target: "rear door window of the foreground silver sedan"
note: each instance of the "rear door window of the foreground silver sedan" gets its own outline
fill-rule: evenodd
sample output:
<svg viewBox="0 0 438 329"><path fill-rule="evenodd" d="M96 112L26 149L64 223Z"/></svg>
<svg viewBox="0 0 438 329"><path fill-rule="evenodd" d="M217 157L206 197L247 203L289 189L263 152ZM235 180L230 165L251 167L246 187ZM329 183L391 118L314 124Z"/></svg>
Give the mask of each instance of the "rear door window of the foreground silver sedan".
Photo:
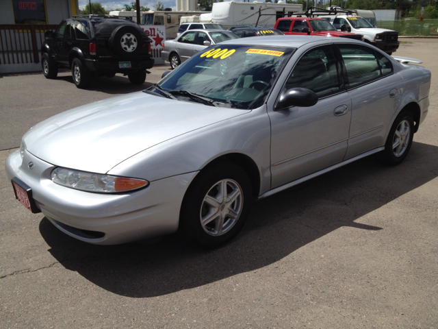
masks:
<svg viewBox="0 0 438 329"><path fill-rule="evenodd" d="M350 87L381 77L374 49L361 45L338 45L347 70ZM386 70L386 69L385 69Z"/></svg>

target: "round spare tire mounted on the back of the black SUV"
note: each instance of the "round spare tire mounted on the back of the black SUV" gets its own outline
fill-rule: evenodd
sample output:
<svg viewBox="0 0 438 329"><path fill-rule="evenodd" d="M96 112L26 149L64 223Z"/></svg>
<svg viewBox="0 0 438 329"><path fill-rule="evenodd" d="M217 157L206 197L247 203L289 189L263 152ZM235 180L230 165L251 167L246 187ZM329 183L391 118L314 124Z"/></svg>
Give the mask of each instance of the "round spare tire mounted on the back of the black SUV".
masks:
<svg viewBox="0 0 438 329"><path fill-rule="evenodd" d="M142 33L132 25L122 25L114 29L110 37L110 47L122 58L133 58L142 52Z"/></svg>

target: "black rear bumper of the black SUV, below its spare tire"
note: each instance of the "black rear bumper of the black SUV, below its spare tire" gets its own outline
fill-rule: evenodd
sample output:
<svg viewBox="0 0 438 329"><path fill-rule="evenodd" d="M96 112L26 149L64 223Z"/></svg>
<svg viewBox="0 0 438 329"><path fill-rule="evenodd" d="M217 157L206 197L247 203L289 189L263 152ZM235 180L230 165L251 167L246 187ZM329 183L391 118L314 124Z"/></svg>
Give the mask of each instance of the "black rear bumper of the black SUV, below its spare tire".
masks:
<svg viewBox="0 0 438 329"><path fill-rule="evenodd" d="M130 69L120 69L118 66L119 62L131 62ZM90 72L118 72L118 73L129 73L131 71L144 71L151 69L153 67L155 60L153 58L142 59L142 60L92 60L86 59L85 64L88 71Z"/></svg>

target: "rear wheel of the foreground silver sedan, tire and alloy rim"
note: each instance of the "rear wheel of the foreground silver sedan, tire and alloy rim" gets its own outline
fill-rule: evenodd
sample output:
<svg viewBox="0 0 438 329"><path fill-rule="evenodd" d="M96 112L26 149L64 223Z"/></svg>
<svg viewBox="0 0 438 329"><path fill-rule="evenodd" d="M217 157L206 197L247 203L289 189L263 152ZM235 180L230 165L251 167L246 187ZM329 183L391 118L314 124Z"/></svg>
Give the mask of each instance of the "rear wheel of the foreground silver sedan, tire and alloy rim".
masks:
<svg viewBox="0 0 438 329"><path fill-rule="evenodd" d="M413 141L413 117L402 110L389 130L385 150L379 154L385 164L396 166L407 157Z"/></svg>

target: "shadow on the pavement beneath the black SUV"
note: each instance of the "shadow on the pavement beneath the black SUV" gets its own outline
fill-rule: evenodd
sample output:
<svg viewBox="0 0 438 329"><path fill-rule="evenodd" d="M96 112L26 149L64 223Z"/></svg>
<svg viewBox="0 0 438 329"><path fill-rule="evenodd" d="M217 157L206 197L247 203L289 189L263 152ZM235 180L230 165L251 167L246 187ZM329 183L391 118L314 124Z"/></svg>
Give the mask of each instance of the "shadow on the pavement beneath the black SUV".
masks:
<svg viewBox="0 0 438 329"><path fill-rule="evenodd" d="M56 79L70 82L72 88L76 88L71 73L59 75ZM115 77L93 77L92 83L87 90L100 91L107 94L127 94L144 90L152 85L151 82L147 81L147 75L144 84L131 84L127 76L116 75Z"/></svg>

